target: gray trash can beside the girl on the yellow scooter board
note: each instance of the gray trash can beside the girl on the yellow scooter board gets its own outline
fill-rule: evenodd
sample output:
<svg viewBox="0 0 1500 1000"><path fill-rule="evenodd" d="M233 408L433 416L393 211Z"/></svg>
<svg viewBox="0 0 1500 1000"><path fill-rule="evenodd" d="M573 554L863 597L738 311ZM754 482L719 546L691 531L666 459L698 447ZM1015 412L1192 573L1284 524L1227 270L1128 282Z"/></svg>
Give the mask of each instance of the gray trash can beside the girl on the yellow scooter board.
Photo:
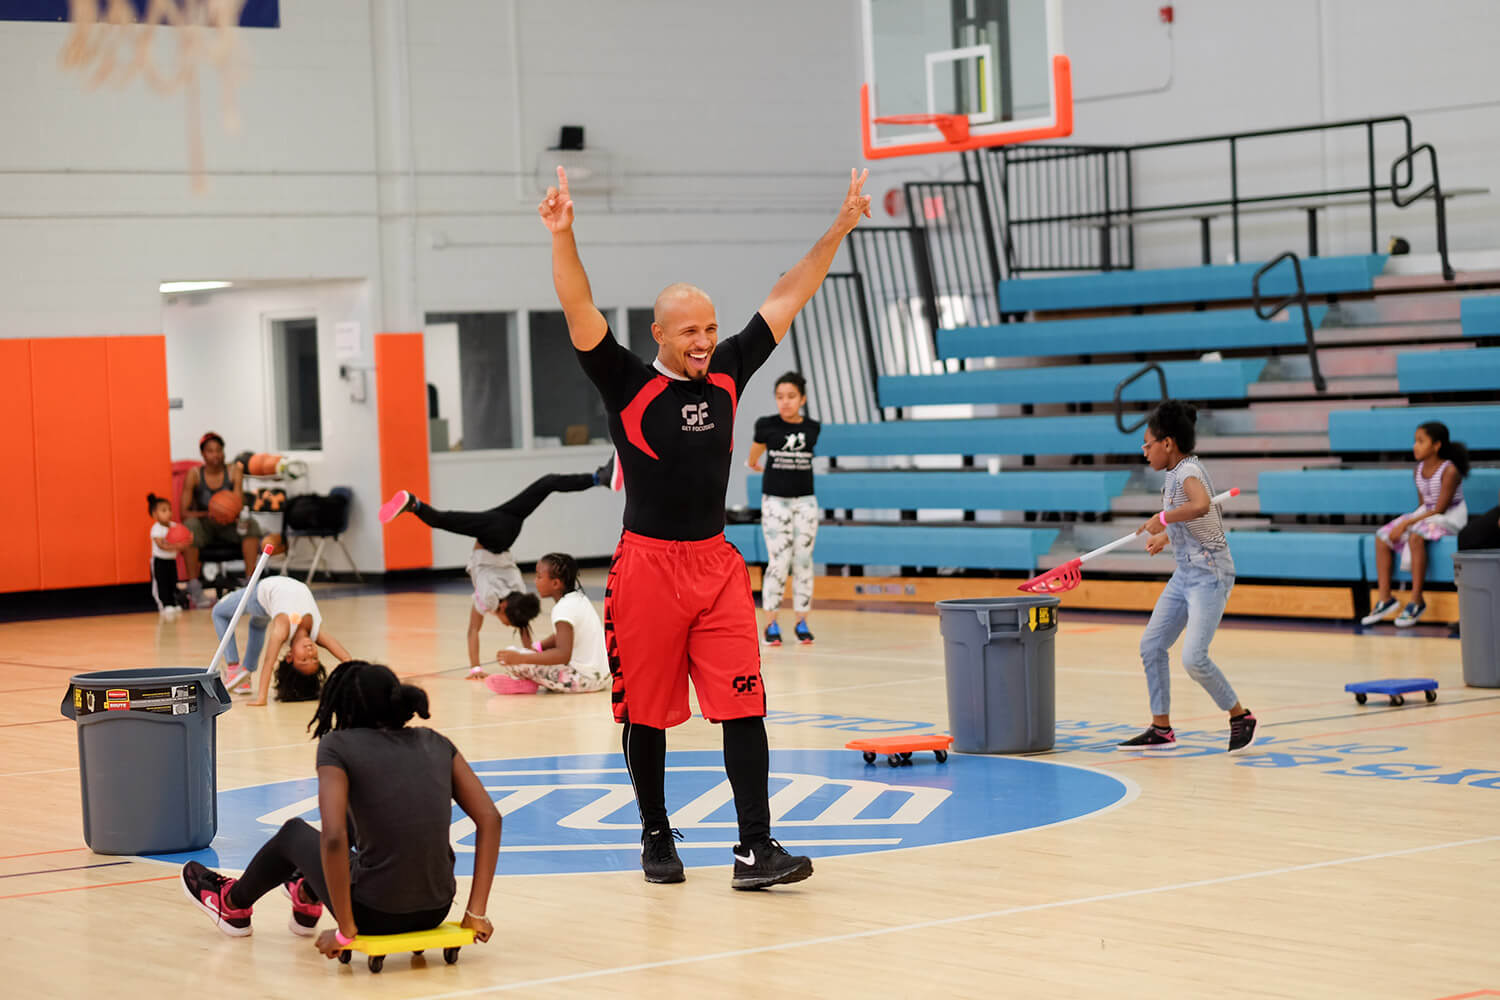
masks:
<svg viewBox="0 0 1500 1000"><path fill-rule="evenodd" d="M75 673L84 843L99 855L201 850L219 829L216 720L230 693L202 667Z"/></svg>

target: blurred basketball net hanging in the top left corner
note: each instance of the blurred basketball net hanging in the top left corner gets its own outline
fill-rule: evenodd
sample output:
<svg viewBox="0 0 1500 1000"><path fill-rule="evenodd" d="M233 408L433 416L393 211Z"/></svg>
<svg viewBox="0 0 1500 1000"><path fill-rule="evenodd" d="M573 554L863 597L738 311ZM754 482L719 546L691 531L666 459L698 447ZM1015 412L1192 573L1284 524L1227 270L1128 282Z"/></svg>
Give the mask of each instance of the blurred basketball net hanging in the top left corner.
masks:
<svg viewBox="0 0 1500 1000"><path fill-rule="evenodd" d="M136 76L159 93L182 90L188 100L188 157L194 190L202 192L202 126L198 108L198 70L219 70L220 118L228 132L238 132L240 114L234 88L243 75L243 52L234 36L246 0L148 0L136 19L130 0L69 0L74 30L63 42L64 69L88 73L88 85L123 87ZM104 16L100 16L104 6ZM152 46L156 28L176 30L177 58L158 64ZM92 70L90 70L92 67Z"/></svg>

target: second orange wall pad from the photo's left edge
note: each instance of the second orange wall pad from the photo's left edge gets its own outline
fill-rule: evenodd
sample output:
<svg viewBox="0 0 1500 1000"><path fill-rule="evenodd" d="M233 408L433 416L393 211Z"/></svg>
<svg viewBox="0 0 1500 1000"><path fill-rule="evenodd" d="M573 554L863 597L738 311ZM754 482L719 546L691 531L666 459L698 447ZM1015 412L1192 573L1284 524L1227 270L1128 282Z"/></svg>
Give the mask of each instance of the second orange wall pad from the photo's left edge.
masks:
<svg viewBox="0 0 1500 1000"><path fill-rule="evenodd" d="M42 588L116 583L105 337L32 340L32 415Z"/></svg>

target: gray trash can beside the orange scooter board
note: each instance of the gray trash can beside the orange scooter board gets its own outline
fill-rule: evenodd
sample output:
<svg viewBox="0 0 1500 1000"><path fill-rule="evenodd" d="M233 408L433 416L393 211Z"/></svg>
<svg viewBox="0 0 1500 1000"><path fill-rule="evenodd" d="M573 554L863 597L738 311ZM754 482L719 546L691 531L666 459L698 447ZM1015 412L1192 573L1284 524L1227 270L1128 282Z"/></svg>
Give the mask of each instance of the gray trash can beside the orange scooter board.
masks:
<svg viewBox="0 0 1500 1000"><path fill-rule="evenodd" d="M1056 739L1056 597L938 601L952 748L1050 750Z"/></svg>

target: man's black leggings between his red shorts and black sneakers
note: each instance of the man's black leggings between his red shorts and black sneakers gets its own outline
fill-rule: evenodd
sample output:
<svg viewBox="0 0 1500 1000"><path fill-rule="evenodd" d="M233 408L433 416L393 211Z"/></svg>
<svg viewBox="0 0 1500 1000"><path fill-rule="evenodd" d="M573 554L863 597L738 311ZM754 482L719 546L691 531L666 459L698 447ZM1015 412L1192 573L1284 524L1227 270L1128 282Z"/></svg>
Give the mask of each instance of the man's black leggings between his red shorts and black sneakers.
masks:
<svg viewBox="0 0 1500 1000"><path fill-rule="evenodd" d="M740 843L759 844L771 835L770 771L771 750L765 720L732 718L724 730L724 774L735 793ZM626 751L630 784L636 789L642 831L668 826L666 813L666 730L640 726L626 718L620 744Z"/></svg>

